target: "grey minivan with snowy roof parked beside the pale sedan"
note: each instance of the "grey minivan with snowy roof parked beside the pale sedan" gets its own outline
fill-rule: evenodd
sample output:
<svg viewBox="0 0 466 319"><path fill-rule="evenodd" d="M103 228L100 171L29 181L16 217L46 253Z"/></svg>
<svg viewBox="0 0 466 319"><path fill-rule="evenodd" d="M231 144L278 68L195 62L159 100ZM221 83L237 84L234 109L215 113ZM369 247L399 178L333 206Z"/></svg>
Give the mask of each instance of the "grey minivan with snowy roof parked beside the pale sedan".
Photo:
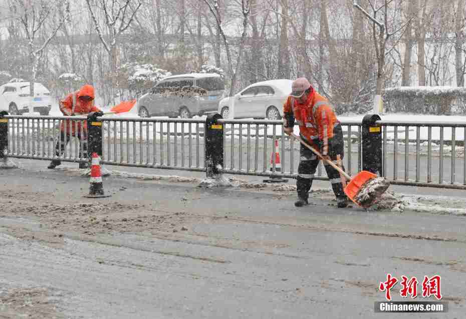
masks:
<svg viewBox="0 0 466 319"><path fill-rule="evenodd" d="M165 77L137 102L141 117L190 118L216 111L225 85L216 73L189 73Z"/></svg>

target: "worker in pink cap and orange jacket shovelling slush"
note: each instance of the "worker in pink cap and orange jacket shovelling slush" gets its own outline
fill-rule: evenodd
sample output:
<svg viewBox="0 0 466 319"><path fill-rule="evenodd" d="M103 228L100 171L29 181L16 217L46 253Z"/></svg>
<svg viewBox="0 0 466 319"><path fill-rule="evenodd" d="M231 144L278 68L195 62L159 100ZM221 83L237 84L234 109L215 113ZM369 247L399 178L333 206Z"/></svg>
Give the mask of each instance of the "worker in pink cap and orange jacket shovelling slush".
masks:
<svg viewBox="0 0 466 319"><path fill-rule="evenodd" d="M317 93L305 77L293 81L292 92L283 105L283 114L286 134L290 135L293 132L296 120L301 138L315 149L320 149L324 158L335 162L343 158L344 144L340 121L328 100ZM319 160L320 158L316 154L301 144L296 179L298 200L295 202L295 206L309 204L308 192L311 189ZM338 207L346 207L348 198L343 191L340 173L325 161L324 166L337 198ZM343 166L342 169L344 170Z"/></svg>

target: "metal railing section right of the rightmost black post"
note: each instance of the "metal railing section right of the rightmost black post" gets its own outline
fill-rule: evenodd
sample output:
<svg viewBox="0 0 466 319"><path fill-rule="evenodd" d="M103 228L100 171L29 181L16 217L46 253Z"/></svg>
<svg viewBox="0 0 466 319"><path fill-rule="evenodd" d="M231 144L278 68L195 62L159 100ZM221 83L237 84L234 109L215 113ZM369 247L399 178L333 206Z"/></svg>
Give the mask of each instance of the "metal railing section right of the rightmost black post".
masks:
<svg viewBox="0 0 466 319"><path fill-rule="evenodd" d="M382 175L391 183L466 189L466 122L377 123L383 128Z"/></svg>

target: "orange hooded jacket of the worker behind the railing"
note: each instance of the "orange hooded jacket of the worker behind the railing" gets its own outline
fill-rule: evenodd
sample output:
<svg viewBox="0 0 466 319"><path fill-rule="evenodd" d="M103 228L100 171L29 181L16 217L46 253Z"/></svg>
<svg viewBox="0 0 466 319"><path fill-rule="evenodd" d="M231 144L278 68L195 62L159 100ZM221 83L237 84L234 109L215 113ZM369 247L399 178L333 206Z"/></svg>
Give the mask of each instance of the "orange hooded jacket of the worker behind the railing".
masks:
<svg viewBox="0 0 466 319"><path fill-rule="evenodd" d="M80 96L90 96L92 100L83 101ZM60 101L60 110L63 115L70 116L72 114L76 115L87 115L89 112L99 112L100 109L94 105L94 87L90 84L83 85L79 90L68 94L63 100ZM66 130L72 136L75 136L76 132L81 134L81 121L74 120L62 120L60 129L62 132L65 131L65 122ZM76 123L77 122L77 123ZM84 121L83 132L85 138L87 136L87 121Z"/></svg>

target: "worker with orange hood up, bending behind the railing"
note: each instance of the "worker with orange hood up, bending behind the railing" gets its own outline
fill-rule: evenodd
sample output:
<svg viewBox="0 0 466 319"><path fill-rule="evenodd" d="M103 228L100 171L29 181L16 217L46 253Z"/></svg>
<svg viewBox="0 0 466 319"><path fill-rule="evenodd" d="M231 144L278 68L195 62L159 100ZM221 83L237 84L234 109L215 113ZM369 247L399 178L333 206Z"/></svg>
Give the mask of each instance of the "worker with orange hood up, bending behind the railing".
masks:
<svg viewBox="0 0 466 319"><path fill-rule="evenodd" d="M100 112L101 110L94 106L94 97L94 87L90 84L85 84L79 90L68 94L65 99L60 101L60 110L65 116L87 115L90 112ZM82 129L84 136L81 136L81 122L84 122ZM64 152L70 140L70 135L77 135L80 140L80 146L83 149L83 157L87 158L87 121L62 120L60 131L60 140L57 141L57 145L55 146L57 156L60 157ZM61 163L60 159L53 159L48 168L55 168ZM79 168L87 167L88 163L79 163Z"/></svg>

